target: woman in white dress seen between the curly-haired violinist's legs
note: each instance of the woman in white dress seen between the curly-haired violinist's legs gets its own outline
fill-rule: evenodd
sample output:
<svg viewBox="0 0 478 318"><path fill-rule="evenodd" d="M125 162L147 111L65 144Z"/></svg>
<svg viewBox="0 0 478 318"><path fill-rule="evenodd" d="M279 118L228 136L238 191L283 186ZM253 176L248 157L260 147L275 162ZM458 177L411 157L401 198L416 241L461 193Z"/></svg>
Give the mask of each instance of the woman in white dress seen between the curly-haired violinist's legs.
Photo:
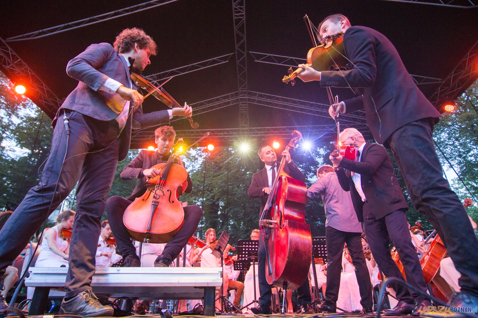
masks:
<svg viewBox="0 0 478 318"><path fill-rule="evenodd" d="M57 224L45 232L40 255L35 267L68 267L70 241L61 237L61 231L73 226L75 212L65 210L56 218Z"/></svg>

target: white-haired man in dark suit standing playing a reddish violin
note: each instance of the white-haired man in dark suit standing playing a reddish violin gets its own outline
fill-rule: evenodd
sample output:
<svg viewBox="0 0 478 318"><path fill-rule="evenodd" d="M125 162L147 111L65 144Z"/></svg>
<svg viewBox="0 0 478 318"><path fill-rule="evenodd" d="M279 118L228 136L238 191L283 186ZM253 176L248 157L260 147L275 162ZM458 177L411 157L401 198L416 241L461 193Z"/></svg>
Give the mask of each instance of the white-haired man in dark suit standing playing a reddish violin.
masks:
<svg viewBox="0 0 478 318"><path fill-rule="evenodd" d="M422 267L412 245L405 215L408 204L395 177L389 154L380 144L366 143L355 128L344 129L340 133L340 142L343 145L357 144L359 149L357 162L341 155L331 155L330 160L337 169L340 186L345 191L350 191L355 213L359 222L363 222L364 233L375 261L386 277L403 279L391 258L391 239L405 269L407 282L426 293ZM412 290L409 292L402 284L392 283L391 286L397 293L399 303L395 308L386 310L385 315L401 316L411 313L413 316L419 316L418 310L421 307L431 306L424 296Z"/></svg>

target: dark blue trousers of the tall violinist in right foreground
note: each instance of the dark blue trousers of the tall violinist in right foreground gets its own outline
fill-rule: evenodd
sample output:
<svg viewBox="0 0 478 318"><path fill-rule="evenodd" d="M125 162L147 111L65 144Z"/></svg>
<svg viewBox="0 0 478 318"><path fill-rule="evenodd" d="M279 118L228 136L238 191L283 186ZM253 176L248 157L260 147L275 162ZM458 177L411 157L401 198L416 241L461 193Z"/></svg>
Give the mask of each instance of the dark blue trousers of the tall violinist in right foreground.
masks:
<svg viewBox="0 0 478 318"><path fill-rule="evenodd" d="M478 240L463 204L443 177L432 127L430 118L406 124L388 142L413 205L435 227L461 274L461 291L478 296Z"/></svg>

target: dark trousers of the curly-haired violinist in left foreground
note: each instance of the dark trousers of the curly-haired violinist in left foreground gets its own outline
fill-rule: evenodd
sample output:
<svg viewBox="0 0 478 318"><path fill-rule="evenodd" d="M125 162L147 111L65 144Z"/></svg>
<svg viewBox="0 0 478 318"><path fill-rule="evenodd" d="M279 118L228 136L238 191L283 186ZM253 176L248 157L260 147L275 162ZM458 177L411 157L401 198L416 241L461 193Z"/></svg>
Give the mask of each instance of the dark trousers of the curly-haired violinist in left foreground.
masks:
<svg viewBox="0 0 478 318"><path fill-rule="evenodd" d="M50 156L43 168L40 184L28 191L0 232L0 268L5 268L78 182L65 297L73 297L91 289L101 229L99 221L113 184L120 147L117 128L74 111L70 112L69 117L70 140L63 169L66 132L61 114L54 129ZM57 180L57 193L53 195Z"/></svg>

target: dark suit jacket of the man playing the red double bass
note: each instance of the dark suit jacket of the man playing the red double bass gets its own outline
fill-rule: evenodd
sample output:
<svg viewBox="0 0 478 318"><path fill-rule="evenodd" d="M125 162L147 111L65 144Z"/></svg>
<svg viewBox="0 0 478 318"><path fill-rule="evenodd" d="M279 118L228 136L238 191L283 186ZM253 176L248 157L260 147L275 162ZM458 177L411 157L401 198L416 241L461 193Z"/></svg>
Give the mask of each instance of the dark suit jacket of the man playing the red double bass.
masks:
<svg viewBox="0 0 478 318"><path fill-rule="evenodd" d="M277 166L279 166L279 164L280 163L278 162ZM284 172L286 174L289 174L294 179L305 182L305 175L302 173L302 171L299 170L299 168L297 168L293 161L291 161L289 164L284 165ZM262 191L262 189L268 186L269 180L267 178L267 170L266 167L264 167L264 169L259 172L256 172L252 176L252 182L250 183L249 189L247 189L247 195L249 195L250 198L261 198L260 212L264 210L264 206L266 205L267 199L269 198L269 195Z"/></svg>

